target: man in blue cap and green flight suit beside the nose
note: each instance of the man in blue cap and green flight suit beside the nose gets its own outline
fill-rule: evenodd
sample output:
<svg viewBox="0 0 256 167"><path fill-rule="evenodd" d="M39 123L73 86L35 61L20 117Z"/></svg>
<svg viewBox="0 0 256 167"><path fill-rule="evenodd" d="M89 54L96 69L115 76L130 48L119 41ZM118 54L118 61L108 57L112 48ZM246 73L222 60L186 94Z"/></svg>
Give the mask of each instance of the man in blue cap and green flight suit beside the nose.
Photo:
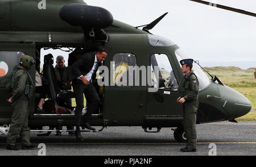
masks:
<svg viewBox="0 0 256 167"><path fill-rule="evenodd" d="M199 82L196 74L193 73L193 59L184 59L180 61L181 72L185 74L178 87L180 97L178 103L183 104L183 124L187 145L181 148L182 152L196 152L196 113L199 106L198 93Z"/></svg>

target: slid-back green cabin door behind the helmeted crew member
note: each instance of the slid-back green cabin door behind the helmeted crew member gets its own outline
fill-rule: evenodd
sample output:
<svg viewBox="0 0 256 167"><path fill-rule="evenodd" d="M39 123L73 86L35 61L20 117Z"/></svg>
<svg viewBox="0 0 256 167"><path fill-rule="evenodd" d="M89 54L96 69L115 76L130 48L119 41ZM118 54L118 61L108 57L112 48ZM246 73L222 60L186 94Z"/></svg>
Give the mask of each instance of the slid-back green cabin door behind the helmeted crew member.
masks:
<svg viewBox="0 0 256 167"><path fill-rule="evenodd" d="M19 60L24 55L35 57L35 43L32 42L6 42L0 44L0 91L3 95L0 96L0 116L1 118L10 119L12 115L11 104L6 99L10 98L10 92L5 86L9 82L13 68L19 65ZM35 80L35 66L30 69L32 80ZM35 82L35 81L34 81ZM6 96L8 94L8 97ZM34 99L34 98L32 98ZM29 114L34 114L34 101L30 102Z"/></svg>

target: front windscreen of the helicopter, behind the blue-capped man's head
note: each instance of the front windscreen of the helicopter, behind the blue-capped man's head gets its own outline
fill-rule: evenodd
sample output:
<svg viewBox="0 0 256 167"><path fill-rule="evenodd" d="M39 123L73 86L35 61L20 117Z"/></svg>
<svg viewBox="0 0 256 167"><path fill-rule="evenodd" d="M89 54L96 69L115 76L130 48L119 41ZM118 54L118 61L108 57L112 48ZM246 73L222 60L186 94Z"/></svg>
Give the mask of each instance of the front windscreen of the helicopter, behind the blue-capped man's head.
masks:
<svg viewBox="0 0 256 167"><path fill-rule="evenodd" d="M189 57L181 49L177 49L175 51L175 55L177 56L178 61L183 60L183 59L189 59ZM209 80L209 77L207 76L207 74L205 74L203 72L203 70L200 68L200 66L197 65L195 62L193 62L192 70L194 71L194 73L196 74L196 76L198 78L199 90L202 90L205 87L207 87L210 83L210 80Z"/></svg>

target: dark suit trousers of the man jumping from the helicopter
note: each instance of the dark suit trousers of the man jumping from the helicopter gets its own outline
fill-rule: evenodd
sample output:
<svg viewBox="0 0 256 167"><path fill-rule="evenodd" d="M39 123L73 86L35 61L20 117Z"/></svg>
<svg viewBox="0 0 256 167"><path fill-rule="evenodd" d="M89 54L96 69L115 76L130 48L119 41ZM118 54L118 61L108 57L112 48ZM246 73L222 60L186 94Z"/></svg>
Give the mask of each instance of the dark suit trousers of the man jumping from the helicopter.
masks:
<svg viewBox="0 0 256 167"><path fill-rule="evenodd" d="M84 108L84 96L86 98L87 112L85 114L85 123L89 122L92 113L98 111L100 106L100 98L92 83L85 85L81 80L73 80L73 90L76 98L76 110L75 110L75 125L77 127L81 124L82 108Z"/></svg>

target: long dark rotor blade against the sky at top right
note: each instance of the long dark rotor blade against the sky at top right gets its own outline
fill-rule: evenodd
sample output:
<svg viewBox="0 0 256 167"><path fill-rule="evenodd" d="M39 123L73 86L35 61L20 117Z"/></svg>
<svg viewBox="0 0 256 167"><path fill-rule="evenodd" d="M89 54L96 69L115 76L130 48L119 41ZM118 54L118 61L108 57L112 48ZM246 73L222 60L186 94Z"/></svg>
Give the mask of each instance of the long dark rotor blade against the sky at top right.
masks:
<svg viewBox="0 0 256 167"><path fill-rule="evenodd" d="M256 17L256 14L253 13L253 12L249 12L249 11L245 11L245 10L241 10L241 9L236 9L236 8L229 7L229 6L219 5L219 4L216 4L216 3L211 3L211 2L207 2L207 1L200 1L200 0L189 0L189 1L203 3L204 5L210 5L210 6L218 7L220 9L225 9L225 10L234 11L234 12L238 12L238 13L241 13L241 14Z"/></svg>

